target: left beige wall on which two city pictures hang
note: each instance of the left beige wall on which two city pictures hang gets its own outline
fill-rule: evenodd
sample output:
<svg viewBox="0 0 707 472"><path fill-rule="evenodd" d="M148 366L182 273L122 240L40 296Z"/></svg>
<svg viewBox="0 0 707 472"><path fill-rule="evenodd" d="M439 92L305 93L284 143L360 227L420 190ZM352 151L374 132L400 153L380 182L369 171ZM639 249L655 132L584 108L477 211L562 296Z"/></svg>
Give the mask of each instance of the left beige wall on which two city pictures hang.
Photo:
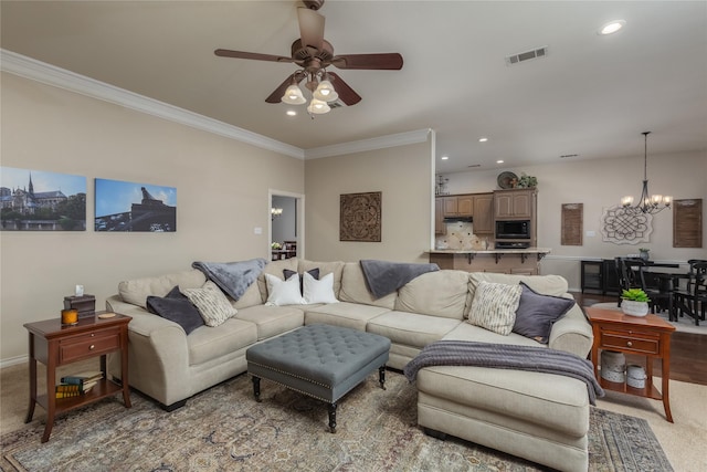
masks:
<svg viewBox="0 0 707 472"><path fill-rule="evenodd" d="M0 232L2 361L27 355L22 324L59 317L75 284L104 307L120 280L268 258L268 189L304 193L303 160L12 74L1 112L0 164L85 176L89 227ZM176 187L177 232L94 232L94 178Z"/></svg>

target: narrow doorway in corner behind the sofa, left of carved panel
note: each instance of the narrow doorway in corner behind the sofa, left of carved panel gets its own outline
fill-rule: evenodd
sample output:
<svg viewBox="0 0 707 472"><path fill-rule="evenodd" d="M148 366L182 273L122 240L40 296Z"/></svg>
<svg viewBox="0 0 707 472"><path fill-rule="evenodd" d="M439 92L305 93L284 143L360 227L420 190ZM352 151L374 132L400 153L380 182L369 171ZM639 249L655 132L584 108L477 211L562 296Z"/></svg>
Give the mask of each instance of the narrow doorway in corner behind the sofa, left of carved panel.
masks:
<svg viewBox="0 0 707 472"><path fill-rule="evenodd" d="M304 196L271 190L272 260L304 258Z"/></svg>

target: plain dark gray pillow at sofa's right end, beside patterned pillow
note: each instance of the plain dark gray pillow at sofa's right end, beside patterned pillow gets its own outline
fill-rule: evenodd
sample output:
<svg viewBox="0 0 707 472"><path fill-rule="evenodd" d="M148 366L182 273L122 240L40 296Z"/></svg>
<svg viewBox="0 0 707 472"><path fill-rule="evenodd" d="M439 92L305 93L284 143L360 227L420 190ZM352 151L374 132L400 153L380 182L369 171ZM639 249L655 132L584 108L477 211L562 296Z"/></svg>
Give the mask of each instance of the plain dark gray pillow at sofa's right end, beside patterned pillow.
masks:
<svg viewBox="0 0 707 472"><path fill-rule="evenodd" d="M513 332L547 344L552 323L564 316L574 306L574 301L561 296L542 295L520 282L523 292L516 311Z"/></svg>

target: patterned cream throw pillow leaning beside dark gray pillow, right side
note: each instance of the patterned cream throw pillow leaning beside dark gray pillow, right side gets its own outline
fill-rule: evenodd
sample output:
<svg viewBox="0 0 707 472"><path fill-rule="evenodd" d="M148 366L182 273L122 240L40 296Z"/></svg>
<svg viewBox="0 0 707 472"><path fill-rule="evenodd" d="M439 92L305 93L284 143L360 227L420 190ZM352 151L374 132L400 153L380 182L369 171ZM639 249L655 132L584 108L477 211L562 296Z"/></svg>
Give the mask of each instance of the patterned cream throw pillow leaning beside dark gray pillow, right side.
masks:
<svg viewBox="0 0 707 472"><path fill-rule="evenodd" d="M468 322L508 336L516 322L521 292L520 285L481 282L474 294Z"/></svg>

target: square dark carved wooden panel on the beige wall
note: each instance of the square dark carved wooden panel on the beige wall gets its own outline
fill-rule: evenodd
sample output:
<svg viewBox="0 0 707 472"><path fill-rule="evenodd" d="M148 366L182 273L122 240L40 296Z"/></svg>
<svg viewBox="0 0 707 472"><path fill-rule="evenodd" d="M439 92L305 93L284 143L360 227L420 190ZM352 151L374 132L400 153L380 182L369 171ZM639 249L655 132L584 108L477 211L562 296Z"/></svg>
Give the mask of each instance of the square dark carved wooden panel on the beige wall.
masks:
<svg viewBox="0 0 707 472"><path fill-rule="evenodd" d="M339 241L380 242L382 192L340 196Z"/></svg>

